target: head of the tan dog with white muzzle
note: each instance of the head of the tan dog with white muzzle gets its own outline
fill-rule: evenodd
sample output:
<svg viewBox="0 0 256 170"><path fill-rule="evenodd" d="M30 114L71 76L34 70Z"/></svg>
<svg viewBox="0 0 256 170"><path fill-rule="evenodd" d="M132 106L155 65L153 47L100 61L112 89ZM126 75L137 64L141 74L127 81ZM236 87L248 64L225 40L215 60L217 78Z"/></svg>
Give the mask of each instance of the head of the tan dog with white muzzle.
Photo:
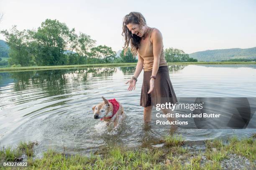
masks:
<svg viewBox="0 0 256 170"><path fill-rule="evenodd" d="M92 107L92 110L94 111L94 113L93 113L94 119L101 119L102 117L107 116L107 114L109 112L110 105L109 105L108 100L105 99L104 97L102 97L102 99L104 102Z"/></svg>

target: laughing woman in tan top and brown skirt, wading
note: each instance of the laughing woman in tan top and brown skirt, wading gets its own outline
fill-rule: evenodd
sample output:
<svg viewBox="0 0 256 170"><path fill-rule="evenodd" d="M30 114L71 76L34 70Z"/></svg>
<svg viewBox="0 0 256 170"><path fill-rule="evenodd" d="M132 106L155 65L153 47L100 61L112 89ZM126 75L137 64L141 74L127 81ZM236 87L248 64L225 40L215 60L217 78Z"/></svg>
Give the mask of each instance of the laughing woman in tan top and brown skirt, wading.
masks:
<svg viewBox="0 0 256 170"><path fill-rule="evenodd" d="M135 89L137 77L144 70L140 106L144 107L144 122L151 121L151 110L156 104L177 103L177 98L169 77L169 69L164 58L164 46L161 32L150 28L141 13L131 12L123 19L123 33L126 53L129 45L134 56L138 54L138 63L128 90ZM164 114L170 109L161 109ZM175 118L168 118L175 121Z"/></svg>

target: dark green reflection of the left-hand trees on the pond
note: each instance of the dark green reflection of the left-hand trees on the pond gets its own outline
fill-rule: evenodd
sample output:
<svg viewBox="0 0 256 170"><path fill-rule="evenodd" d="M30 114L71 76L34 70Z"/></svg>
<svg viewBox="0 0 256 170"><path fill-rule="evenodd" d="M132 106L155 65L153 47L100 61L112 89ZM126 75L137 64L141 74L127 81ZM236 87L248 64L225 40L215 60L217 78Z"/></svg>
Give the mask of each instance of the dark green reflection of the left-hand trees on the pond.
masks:
<svg viewBox="0 0 256 170"><path fill-rule="evenodd" d="M0 80L9 79L14 82L14 91L22 91L27 87L34 86L51 91L51 95L69 93L70 91L63 91L68 79L76 82L87 81L87 77L101 77L107 78L112 76L116 71L115 67L111 68L89 68L89 69L60 69L60 70L42 70L42 71L23 71L0 73ZM9 82L8 82L9 83ZM5 84L1 81L0 84ZM54 91L58 91L57 93Z"/></svg>

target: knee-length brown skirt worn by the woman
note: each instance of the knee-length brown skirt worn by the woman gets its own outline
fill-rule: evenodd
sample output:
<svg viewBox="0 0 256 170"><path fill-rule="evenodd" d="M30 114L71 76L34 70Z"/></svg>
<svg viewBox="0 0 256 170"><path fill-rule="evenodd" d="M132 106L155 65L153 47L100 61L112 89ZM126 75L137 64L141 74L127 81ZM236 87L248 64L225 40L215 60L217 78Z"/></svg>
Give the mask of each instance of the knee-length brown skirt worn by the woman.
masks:
<svg viewBox="0 0 256 170"><path fill-rule="evenodd" d="M178 103L170 80L168 66L159 67L154 82L154 89L150 94L148 94L148 90L150 89L149 81L151 74L152 70L144 71L140 106L156 106L156 104L166 104L166 102L168 104Z"/></svg>

